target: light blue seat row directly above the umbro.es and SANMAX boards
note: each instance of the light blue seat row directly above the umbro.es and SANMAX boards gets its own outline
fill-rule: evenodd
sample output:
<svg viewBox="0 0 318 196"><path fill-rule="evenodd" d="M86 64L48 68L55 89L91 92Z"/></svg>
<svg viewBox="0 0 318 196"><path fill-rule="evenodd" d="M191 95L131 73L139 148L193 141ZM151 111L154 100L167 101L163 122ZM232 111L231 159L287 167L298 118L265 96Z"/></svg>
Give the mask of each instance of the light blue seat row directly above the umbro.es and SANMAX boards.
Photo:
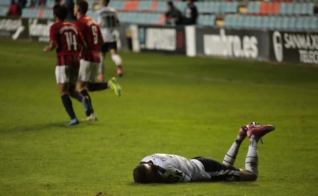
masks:
<svg viewBox="0 0 318 196"><path fill-rule="evenodd" d="M226 27L285 31L317 31L318 18L312 16L226 16Z"/></svg>

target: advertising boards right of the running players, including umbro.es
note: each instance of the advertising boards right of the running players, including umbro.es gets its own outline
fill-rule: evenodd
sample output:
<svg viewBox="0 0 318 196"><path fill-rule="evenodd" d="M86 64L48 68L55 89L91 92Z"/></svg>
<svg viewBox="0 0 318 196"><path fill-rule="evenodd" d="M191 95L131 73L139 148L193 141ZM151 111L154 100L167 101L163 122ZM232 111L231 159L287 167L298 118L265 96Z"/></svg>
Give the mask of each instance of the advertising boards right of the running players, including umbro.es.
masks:
<svg viewBox="0 0 318 196"><path fill-rule="evenodd" d="M318 33L153 25L131 30L137 52L318 64Z"/></svg>

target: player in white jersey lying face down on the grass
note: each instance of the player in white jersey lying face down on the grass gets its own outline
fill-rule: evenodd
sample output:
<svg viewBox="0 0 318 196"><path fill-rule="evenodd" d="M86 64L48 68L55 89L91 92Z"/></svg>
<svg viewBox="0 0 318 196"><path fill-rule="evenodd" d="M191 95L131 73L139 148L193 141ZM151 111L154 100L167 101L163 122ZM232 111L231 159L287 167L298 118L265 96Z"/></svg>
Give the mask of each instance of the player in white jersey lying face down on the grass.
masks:
<svg viewBox="0 0 318 196"><path fill-rule="evenodd" d="M272 125L250 123L243 126L233 145L226 153L223 163L206 157L187 159L177 155L153 154L143 158L134 169L133 176L138 183L174 183L193 181L254 181L258 176L257 142L275 129ZM245 170L233 167L244 138L250 138L245 159Z"/></svg>

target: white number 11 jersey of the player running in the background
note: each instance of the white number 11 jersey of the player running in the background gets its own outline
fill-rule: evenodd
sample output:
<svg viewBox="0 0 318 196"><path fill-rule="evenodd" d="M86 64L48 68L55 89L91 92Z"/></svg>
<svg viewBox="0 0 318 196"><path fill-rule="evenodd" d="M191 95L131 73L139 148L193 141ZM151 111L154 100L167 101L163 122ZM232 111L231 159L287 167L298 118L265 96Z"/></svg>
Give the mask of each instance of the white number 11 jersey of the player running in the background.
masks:
<svg viewBox="0 0 318 196"><path fill-rule="evenodd" d="M115 27L119 24L116 10L110 7L102 7L96 11L97 23L100 27L104 42L115 42Z"/></svg>

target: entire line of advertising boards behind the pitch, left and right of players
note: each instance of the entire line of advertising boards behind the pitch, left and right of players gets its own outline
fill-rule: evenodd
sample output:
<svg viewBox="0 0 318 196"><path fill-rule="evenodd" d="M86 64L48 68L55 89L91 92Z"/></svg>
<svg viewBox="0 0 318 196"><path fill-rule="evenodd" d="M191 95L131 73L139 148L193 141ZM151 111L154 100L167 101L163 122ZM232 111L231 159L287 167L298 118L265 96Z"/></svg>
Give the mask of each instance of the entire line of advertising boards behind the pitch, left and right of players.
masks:
<svg viewBox="0 0 318 196"><path fill-rule="evenodd" d="M0 17L0 38L48 41L54 21ZM133 51L185 54L259 61L318 64L318 33L269 30L234 30L202 26L123 25L118 48L127 50L126 29Z"/></svg>

